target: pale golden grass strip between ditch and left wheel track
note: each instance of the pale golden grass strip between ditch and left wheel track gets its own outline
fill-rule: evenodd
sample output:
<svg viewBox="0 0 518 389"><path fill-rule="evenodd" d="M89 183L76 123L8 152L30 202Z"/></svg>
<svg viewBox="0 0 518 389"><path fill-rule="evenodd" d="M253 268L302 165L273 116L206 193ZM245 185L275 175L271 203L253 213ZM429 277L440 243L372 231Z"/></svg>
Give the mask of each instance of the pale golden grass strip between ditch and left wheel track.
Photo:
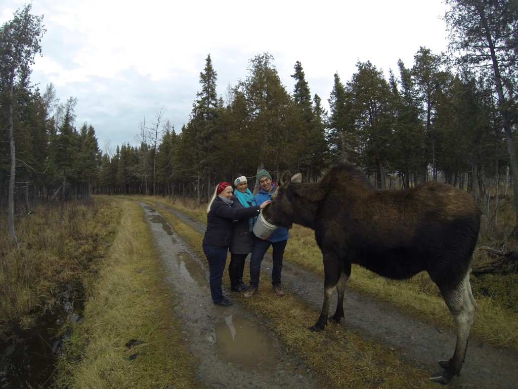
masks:
<svg viewBox="0 0 518 389"><path fill-rule="evenodd" d="M84 317L67 342L59 385L67 388L200 388L195 358L171 310L159 256L135 203L122 203L121 223L98 264ZM130 342L130 343L128 343Z"/></svg>

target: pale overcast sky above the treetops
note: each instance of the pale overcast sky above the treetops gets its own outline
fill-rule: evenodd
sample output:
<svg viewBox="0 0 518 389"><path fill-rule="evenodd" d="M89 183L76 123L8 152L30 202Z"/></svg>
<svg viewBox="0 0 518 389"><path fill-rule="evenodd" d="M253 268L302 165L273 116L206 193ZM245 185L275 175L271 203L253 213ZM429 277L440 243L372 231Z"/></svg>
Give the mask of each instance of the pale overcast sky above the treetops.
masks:
<svg viewBox="0 0 518 389"><path fill-rule="evenodd" d="M0 23L28 0L0 0ZM151 125L163 107L176 132L189 121L199 75L210 53L218 94L249 74L249 61L270 53L286 90L293 92L300 61L311 94L325 108L334 74L343 83L358 61L388 76L397 61L407 67L421 46L447 49L441 0L33 0L44 15L42 57L32 81L50 82L65 102L78 99L75 126L91 124L99 148L136 145L139 126Z"/></svg>

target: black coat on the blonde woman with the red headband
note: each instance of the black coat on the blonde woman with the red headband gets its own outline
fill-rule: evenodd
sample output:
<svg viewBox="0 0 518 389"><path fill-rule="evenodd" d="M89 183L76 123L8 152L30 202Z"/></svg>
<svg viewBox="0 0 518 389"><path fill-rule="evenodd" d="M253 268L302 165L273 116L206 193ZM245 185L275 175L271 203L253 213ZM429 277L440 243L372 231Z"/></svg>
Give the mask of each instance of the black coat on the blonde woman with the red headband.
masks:
<svg viewBox="0 0 518 389"><path fill-rule="evenodd" d="M207 214L207 229L203 243L218 247L230 247L233 238L234 220L258 216L260 206L233 208L216 196Z"/></svg>

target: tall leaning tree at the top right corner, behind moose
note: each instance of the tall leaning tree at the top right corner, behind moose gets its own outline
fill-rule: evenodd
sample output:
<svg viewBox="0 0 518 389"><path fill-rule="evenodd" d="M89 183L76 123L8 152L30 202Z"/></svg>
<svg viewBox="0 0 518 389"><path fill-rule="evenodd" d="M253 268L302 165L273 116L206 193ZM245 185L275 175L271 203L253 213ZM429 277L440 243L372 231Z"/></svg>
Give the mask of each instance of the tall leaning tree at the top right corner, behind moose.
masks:
<svg viewBox="0 0 518 389"><path fill-rule="evenodd" d="M477 72L496 91L495 106L504 130L512 175L518 177L518 159L512 127L518 116L518 6L514 0L447 0L444 20L450 30L450 50L461 53L458 63ZM518 193L518 179L513 180ZM518 196L515 196L518 232Z"/></svg>

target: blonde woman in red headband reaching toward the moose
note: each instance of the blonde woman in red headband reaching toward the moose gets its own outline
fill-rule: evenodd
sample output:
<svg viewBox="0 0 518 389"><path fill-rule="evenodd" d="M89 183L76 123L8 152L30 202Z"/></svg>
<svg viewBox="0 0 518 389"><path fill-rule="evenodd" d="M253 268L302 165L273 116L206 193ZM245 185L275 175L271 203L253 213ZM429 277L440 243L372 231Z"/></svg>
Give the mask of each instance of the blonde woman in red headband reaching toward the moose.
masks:
<svg viewBox="0 0 518 389"><path fill-rule="evenodd" d="M258 216L271 201L247 208L232 207L232 186L221 182L207 207L207 229L203 238L203 252L209 262L210 294L214 304L232 305L223 295L221 279L225 270L228 247L232 244L234 220Z"/></svg>

